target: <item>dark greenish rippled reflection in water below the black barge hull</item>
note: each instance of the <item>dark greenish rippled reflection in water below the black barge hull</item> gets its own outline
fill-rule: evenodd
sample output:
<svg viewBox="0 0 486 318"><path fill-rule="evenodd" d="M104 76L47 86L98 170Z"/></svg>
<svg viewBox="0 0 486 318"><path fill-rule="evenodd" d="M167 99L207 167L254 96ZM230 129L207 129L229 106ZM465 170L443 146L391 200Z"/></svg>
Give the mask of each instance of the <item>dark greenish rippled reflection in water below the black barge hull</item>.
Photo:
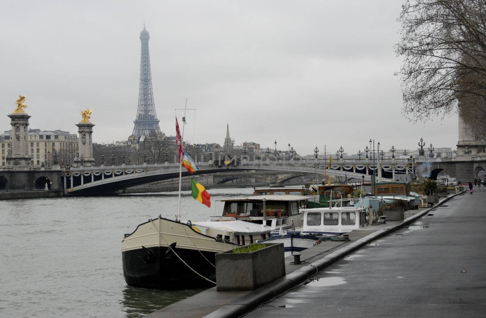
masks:
<svg viewBox="0 0 486 318"><path fill-rule="evenodd" d="M138 318L168 306L171 303L191 297L203 290L153 290L128 286L123 289L121 305L123 311L126 313L126 318Z"/></svg>

